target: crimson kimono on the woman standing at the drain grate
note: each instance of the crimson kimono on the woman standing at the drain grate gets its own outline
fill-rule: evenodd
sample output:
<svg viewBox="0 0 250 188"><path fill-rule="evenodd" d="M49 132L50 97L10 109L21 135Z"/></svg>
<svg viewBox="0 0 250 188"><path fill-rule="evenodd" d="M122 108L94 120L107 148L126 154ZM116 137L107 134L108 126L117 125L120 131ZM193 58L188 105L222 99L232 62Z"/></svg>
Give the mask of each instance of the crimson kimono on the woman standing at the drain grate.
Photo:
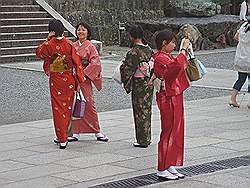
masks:
<svg viewBox="0 0 250 188"><path fill-rule="evenodd" d="M158 170L182 166L184 158L183 92L189 87L185 74L188 64L181 53L176 58L164 52L154 57L154 73L164 80L165 88L156 93L161 115L161 135L158 143Z"/></svg>

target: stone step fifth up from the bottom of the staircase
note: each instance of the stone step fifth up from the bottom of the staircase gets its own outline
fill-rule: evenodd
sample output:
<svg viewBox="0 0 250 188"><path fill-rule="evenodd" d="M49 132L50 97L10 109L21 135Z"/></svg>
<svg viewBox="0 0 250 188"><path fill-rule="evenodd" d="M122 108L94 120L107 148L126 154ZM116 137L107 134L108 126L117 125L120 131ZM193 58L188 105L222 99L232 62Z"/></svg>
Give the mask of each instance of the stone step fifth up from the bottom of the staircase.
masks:
<svg viewBox="0 0 250 188"><path fill-rule="evenodd" d="M41 25L7 25L7 26L0 26L0 31L2 33L20 33L20 32L36 32L36 31L47 31L48 24L41 24Z"/></svg>

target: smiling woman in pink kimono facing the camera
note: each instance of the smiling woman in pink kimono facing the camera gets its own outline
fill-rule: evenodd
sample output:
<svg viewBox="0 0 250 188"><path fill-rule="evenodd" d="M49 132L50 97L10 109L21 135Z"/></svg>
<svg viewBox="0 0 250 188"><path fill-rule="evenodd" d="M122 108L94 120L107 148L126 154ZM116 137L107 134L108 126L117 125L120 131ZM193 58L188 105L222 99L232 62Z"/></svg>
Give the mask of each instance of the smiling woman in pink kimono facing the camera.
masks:
<svg viewBox="0 0 250 188"><path fill-rule="evenodd" d="M91 30L87 24L78 24L76 26L76 35L78 40L73 45L81 57L83 72L86 78L86 81L80 84L86 103L84 117L73 120L73 139L71 138L71 140L78 141L80 133L95 133L98 141L107 142L108 137L100 132L92 86L94 84L98 91L102 89L100 57L96 47L90 41Z"/></svg>

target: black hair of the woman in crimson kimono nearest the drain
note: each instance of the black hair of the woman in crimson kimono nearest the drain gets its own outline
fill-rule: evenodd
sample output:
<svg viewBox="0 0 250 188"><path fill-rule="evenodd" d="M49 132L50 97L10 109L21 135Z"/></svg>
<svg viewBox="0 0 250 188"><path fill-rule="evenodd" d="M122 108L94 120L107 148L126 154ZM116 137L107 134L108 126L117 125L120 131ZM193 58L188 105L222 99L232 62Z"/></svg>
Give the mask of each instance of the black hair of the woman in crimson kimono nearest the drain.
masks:
<svg viewBox="0 0 250 188"><path fill-rule="evenodd" d="M159 31L155 36L155 45L157 50L162 49L162 43L163 41L166 41L167 43L170 43L172 40L175 40L175 34L170 30L162 30Z"/></svg>

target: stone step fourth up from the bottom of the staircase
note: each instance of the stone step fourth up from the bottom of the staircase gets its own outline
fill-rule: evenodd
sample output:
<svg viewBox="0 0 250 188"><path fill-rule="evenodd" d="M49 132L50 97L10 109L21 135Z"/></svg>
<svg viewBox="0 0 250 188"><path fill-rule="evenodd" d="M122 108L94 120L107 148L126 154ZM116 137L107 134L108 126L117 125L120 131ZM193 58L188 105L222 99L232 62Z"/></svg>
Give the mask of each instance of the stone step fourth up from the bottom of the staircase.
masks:
<svg viewBox="0 0 250 188"><path fill-rule="evenodd" d="M48 31L44 32L22 32L22 33L0 33L1 40L22 39L46 39Z"/></svg>

